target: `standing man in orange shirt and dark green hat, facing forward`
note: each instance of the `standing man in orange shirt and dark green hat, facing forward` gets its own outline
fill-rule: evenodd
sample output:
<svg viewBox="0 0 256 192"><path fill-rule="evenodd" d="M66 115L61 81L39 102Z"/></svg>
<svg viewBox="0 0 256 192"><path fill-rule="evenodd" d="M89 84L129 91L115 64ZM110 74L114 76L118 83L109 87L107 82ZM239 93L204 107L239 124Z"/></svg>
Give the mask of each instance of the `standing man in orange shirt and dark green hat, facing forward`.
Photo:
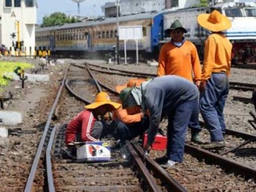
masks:
<svg viewBox="0 0 256 192"><path fill-rule="evenodd" d="M170 28L166 29L171 41L164 44L160 50L157 76L177 75L195 83L199 88L202 74L199 56L196 46L183 37L186 32L179 20L174 21ZM188 127L191 128L191 141L202 144L199 138L199 107L193 110Z"/></svg>

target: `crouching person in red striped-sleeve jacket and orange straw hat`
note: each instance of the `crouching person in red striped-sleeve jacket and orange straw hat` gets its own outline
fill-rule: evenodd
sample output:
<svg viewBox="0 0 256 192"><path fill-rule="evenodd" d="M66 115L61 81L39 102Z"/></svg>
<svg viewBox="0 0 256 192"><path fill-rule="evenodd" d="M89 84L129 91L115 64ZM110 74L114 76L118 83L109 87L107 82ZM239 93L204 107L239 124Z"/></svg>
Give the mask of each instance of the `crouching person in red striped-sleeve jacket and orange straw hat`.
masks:
<svg viewBox="0 0 256 192"><path fill-rule="evenodd" d="M112 102L107 93L97 94L95 102L85 105L85 110L69 122L65 131L65 144L68 146L80 141L99 141L104 137L104 129L107 129L104 118L100 119L99 116L114 111L118 107L121 107L121 104Z"/></svg>

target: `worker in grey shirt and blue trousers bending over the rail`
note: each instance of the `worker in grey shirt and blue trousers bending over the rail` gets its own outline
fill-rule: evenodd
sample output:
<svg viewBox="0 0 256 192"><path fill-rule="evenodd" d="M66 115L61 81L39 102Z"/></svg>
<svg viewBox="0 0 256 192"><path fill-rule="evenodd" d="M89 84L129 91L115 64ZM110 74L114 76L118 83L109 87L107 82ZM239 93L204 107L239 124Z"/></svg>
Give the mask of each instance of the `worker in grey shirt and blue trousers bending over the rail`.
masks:
<svg viewBox="0 0 256 192"><path fill-rule="evenodd" d="M125 88L119 96L123 108L140 105L144 112L149 110L145 151L149 151L154 142L161 116L168 117L166 156L160 159L160 163L166 167L181 163L188 122L199 104L196 85L185 78L166 75L143 82L140 87Z"/></svg>

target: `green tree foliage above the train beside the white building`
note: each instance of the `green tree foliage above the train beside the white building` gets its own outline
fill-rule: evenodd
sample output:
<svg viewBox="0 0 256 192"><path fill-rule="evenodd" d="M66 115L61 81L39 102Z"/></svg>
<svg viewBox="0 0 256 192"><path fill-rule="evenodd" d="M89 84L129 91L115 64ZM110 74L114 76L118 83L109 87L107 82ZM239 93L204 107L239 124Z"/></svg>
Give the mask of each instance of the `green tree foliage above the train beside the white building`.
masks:
<svg viewBox="0 0 256 192"><path fill-rule="evenodd" d="M49 16L44 16L43 24L41 24L41 26L57 26L76 22L79 22L79 19L74 17L67 17L65 13L56 12Z"/></svg>

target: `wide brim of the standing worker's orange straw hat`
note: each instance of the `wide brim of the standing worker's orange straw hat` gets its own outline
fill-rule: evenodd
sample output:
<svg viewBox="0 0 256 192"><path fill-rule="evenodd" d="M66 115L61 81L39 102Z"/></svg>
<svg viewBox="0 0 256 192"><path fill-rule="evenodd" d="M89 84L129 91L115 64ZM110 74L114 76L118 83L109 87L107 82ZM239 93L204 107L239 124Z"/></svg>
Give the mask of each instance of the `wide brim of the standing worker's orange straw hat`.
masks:
<svg viewBox="0 0 256 192"><path fill-rule="evenodd" d="M221 23L213 24L208 20L210 13L202 13L197 16L197 22L199 25L204 27L205 29L210 30L211 32L221 32L231 28L231 21L225 15L221 15Z"/></svg>

